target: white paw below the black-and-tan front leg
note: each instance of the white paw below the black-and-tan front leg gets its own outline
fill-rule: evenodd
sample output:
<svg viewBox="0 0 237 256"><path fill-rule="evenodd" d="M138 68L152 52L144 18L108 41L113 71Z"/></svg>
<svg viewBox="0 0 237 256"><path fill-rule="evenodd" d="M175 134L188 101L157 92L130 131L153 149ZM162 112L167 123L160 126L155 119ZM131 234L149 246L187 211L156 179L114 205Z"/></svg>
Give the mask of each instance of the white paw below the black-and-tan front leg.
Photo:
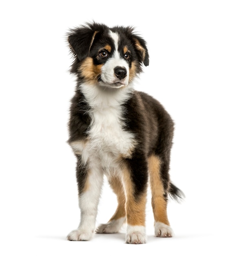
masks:
<svg viewBox="0 0 237 256"><path fill-rule="evenodd" d="M128 225L126 233L127 244L145 244L146 243L146 231L143 226L131 226Z"/></svg>

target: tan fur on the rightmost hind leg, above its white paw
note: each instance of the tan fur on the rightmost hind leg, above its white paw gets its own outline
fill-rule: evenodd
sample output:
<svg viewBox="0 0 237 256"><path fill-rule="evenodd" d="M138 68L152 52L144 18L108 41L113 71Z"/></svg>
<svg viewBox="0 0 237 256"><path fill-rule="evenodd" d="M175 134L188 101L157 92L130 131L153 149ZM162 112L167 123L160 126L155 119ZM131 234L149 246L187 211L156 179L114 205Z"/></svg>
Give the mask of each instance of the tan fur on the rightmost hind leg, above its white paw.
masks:
<svg viewBox="0 0 237 256"><path fill-rule="evenodd" d="M151 204L155 222L159 221L169 225L167 217L167 202L164 198L164 187L160 177L161 161L158 156L151 155L148 159L148 168L151 183Z"/></svg>

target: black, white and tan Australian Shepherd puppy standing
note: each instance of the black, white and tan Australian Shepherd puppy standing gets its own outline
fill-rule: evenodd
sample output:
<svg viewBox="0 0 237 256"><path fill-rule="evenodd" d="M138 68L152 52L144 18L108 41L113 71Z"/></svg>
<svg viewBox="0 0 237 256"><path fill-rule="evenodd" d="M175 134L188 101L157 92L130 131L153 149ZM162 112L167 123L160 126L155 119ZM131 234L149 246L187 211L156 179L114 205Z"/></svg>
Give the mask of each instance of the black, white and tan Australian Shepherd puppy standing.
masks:
<svg viewBox="0 0 237 256"><path fill-rule="evenodd" d="M151 185L155 236L171 237L166 205L182 192L169 178L174 125L153 97L133 89L149 64L146 42L131 27L92 23L72 29L71 73L77 77L71 100L69 144L77 158L80 224L68 240L90 240L104 175L118 206L97 233L116 233L127 223L126 243L146 243L145 207Z"/></svg>

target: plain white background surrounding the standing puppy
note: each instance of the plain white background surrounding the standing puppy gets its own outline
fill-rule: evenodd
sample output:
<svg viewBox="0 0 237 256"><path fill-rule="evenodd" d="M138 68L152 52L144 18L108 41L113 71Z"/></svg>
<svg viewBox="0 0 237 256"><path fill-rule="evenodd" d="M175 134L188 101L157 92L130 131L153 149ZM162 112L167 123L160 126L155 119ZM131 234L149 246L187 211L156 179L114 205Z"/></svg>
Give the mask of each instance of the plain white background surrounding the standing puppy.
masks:
<svg viewBox="0 0 237 256"><path fill-rule="evenodd" d="M124 231L66 240L80 213L65 33L92 20L133 25L147 41L135 88L176 124L171 179L186 199L168 206L174 238L153 237L148 196L146 245L126 245ZM236 1L2 1L0 34L1 255L237 255ZM97 222L115 207L105 183Z"/></svg>

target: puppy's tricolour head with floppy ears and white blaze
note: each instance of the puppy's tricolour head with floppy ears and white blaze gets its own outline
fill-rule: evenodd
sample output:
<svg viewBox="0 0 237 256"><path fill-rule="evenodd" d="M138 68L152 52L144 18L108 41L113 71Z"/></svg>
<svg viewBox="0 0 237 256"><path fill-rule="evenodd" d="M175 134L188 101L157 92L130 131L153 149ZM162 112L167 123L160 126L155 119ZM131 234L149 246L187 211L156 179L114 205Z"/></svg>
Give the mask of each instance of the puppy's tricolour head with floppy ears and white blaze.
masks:
<svg viewBox="0 0 237 256"><path fill-rule="evenodd" d="M74 54L71 73L80 82L121 88L149 64L146 42L132 27L92 23L72 29L68 42Z"/></svg>

